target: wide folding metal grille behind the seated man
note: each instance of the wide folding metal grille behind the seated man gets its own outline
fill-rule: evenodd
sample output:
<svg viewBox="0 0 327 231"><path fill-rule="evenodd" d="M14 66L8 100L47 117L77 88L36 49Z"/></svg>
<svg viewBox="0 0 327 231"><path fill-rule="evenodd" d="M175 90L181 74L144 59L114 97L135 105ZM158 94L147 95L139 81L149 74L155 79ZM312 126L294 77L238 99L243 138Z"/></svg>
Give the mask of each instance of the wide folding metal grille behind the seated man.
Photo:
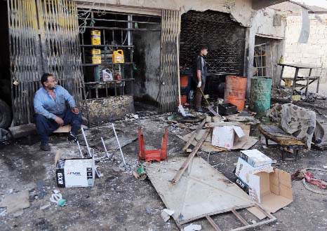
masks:
<svg viewBox="0 0 327 231"><path fill-rule="evenodd" d="M34 92L53 73L81 104L77 8L68 0L8 0L13 123L32 122Z"/></svg>

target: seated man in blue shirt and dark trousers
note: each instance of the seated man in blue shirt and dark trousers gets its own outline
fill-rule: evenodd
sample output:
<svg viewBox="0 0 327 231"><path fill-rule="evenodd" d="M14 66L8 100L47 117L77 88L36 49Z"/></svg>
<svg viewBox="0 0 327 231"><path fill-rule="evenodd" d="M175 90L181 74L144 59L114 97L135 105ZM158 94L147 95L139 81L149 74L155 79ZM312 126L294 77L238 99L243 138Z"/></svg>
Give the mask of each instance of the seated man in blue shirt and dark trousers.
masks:
<svg viewBox="0 0 327 231"><path fill-rule="evenodd" d="M41 150L50 151L48 136L59 126L70 124L72 131L68 134L68 141L77 141L76 134L81 127L82 117L76 108L72 95L64 87L57 85L57 80L51 73L44 73L41 77L42 87L34 96L34 123L41 139ZM68 102L71 110L66 110Z"/></svg>

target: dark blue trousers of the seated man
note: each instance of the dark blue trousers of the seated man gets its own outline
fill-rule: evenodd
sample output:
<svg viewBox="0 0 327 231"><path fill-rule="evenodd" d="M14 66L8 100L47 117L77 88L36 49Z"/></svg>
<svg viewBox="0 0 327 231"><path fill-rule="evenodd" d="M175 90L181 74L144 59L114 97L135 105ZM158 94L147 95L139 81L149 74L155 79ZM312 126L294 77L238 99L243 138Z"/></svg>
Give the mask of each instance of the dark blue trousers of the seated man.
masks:
<svg viewBox="0 0 327 231"><path fill-rule="evenodd" d="M72 134L76 135L79 127L81 127L81 113L74 114L72 111L66 111L60 115L56 115L64 120L64 125L72 125ZM58 129L59 125L53 119L48 119L40 114L34 115L34 123L36 124L36 132L39 134L41 143L48 143L49 136Z"/></svg>

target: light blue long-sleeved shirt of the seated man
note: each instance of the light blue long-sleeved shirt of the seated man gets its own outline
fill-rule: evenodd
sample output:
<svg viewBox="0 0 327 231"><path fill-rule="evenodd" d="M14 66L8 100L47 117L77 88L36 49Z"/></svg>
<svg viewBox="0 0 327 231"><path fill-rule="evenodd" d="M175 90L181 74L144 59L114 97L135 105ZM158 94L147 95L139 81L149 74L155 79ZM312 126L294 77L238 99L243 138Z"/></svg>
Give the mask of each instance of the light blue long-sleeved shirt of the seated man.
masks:
<svg viewBox="0 0 327 231"><path fill-rule="evenodd" d="M55 92L55 100L44 87L36 91L34 95L34 111L54 120L56 115L65 113L65 102L68 102L71 108L75 107L76 104L72 95L64 87L56 85L53 91Z"/></svg>

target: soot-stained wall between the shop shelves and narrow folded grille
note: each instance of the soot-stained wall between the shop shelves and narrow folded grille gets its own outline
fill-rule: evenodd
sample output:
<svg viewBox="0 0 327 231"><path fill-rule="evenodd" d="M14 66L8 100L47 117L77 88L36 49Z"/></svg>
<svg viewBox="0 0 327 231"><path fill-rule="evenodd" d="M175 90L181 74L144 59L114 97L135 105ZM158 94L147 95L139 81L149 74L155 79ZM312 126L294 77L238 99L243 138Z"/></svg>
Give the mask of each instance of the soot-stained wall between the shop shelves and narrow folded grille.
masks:
<svg viewBox="0 0 327 231"><path fill-rule="evenodd" d="M160 29L160 25L152 29ZM138 31L133 34L135 71L135 97L147 97L156 101L160 78L160 31Z"/></svg>

